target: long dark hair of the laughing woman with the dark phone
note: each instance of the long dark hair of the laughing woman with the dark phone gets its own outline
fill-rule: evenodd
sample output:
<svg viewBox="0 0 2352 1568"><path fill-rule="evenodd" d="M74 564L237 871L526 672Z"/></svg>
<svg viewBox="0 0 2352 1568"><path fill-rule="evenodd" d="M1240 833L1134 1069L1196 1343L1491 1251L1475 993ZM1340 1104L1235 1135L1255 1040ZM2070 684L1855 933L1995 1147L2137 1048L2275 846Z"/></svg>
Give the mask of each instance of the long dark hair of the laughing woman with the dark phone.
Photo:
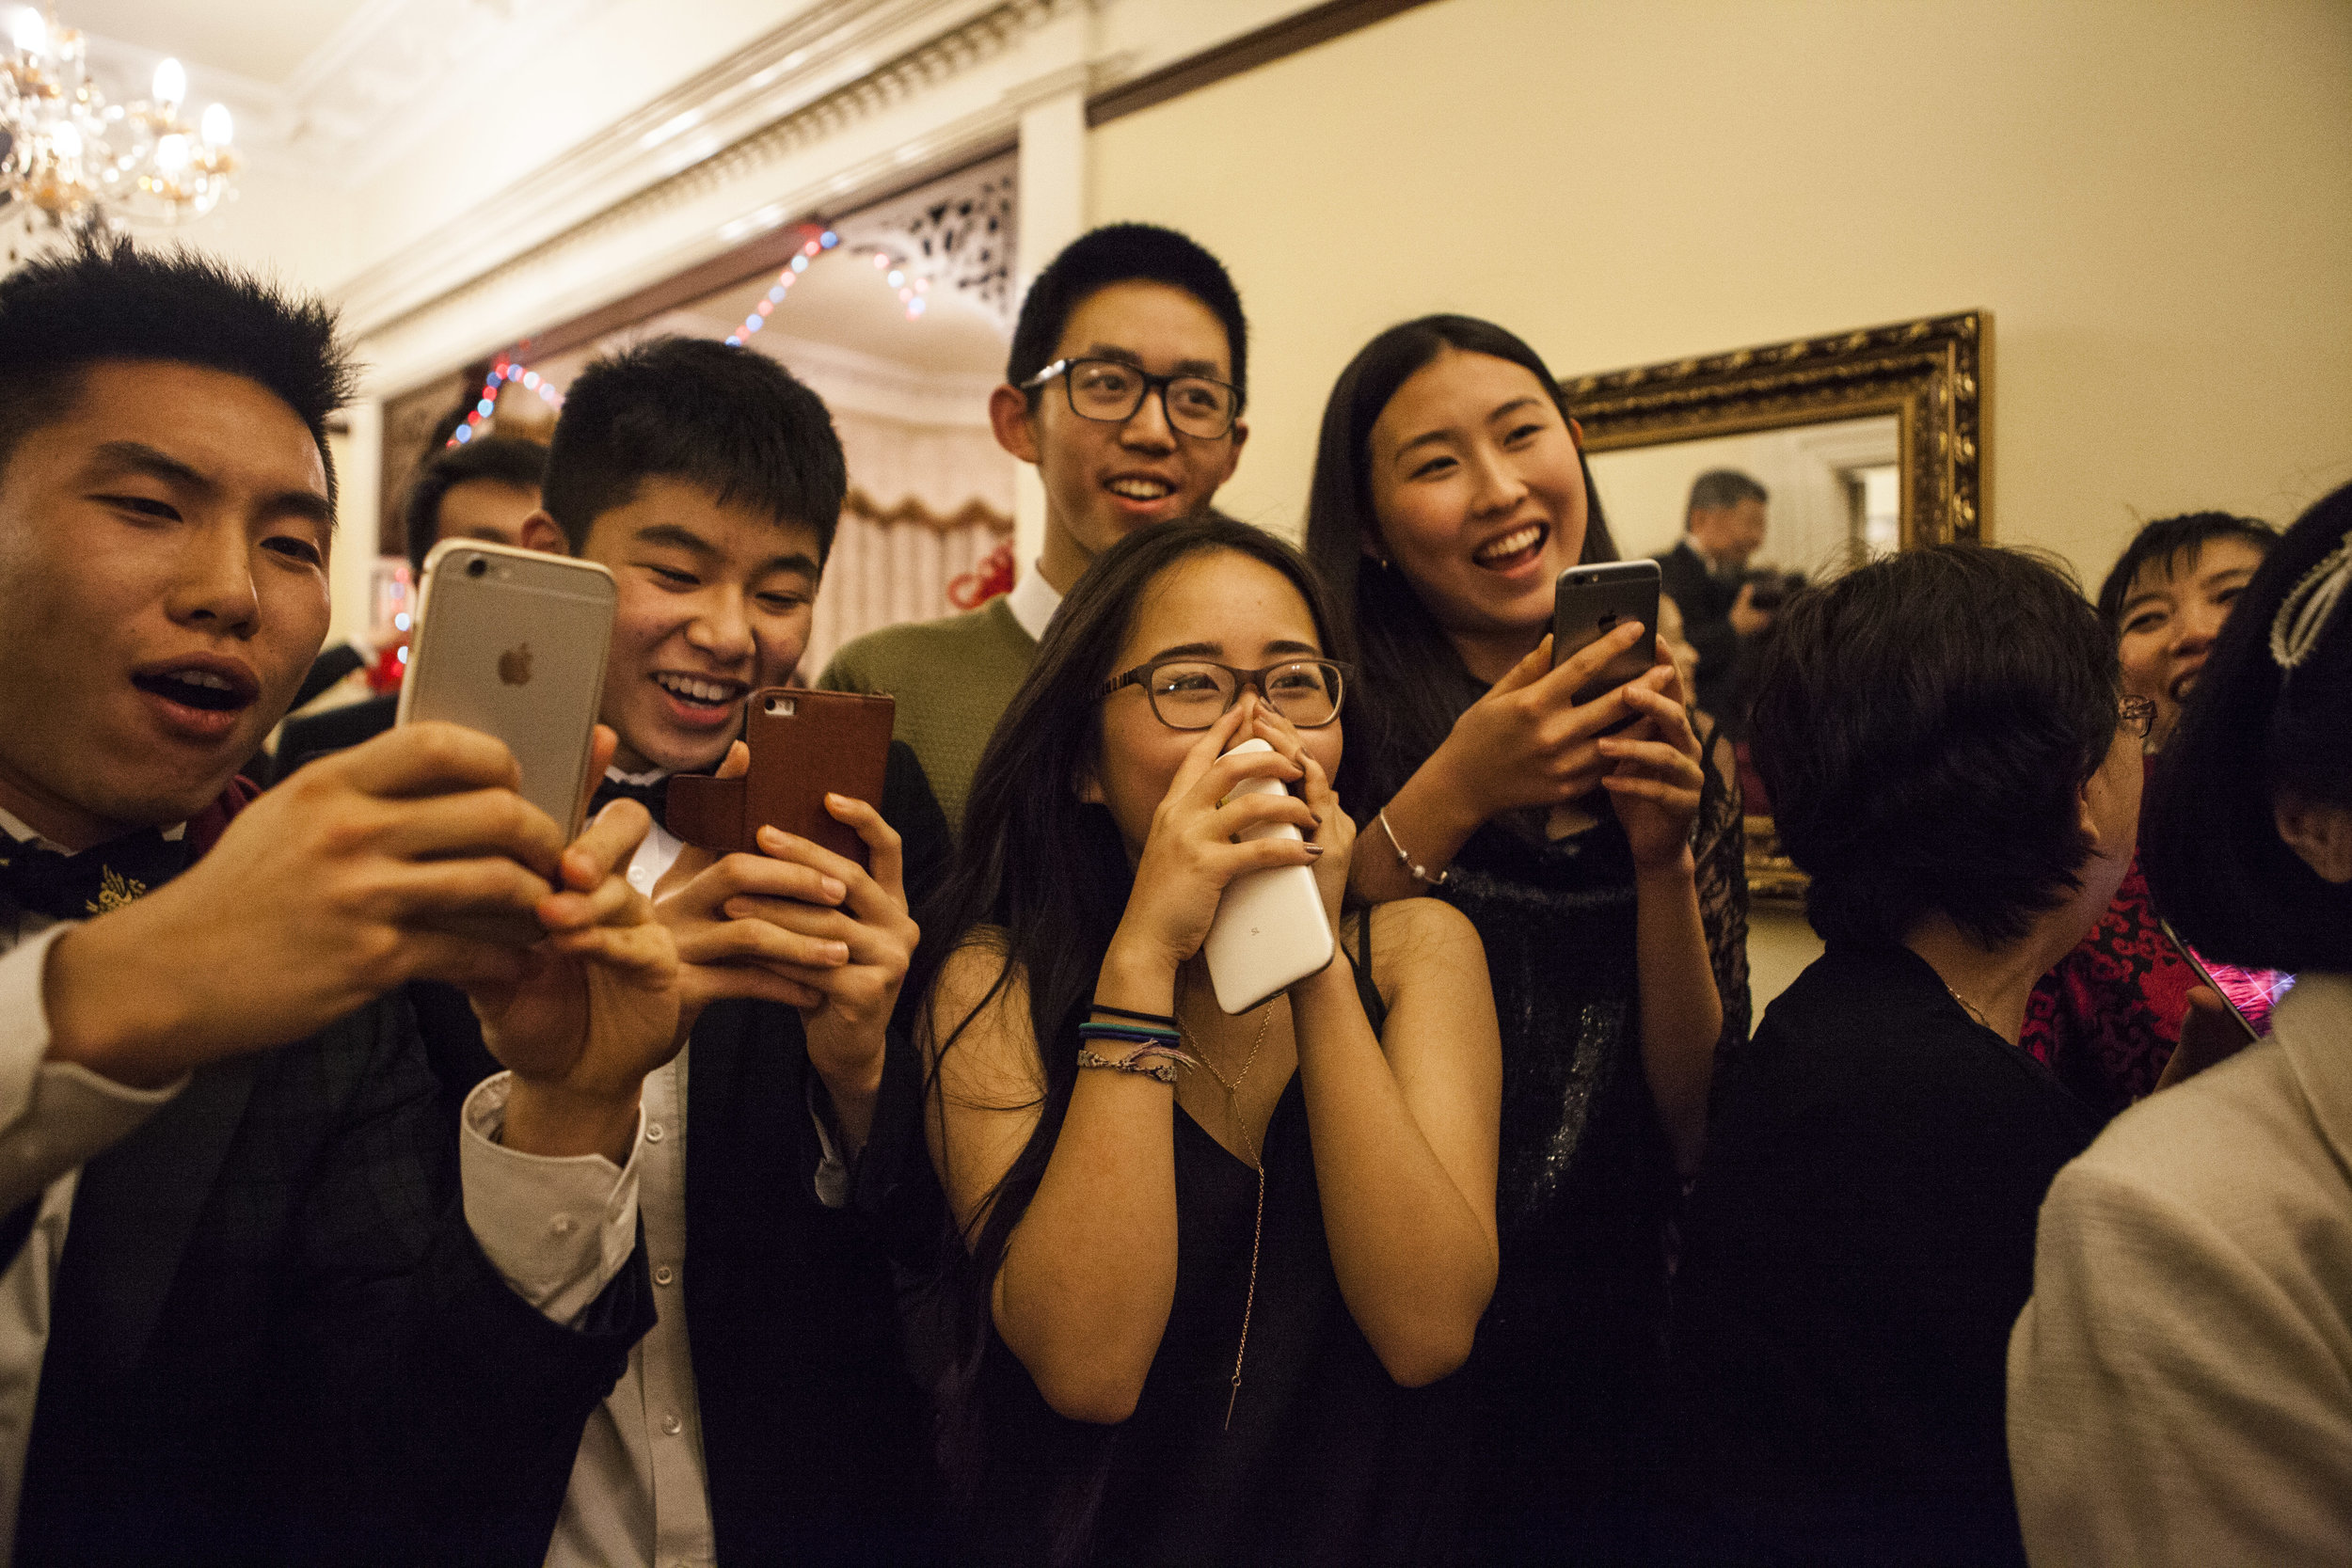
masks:
<svg viewBox="0 0 2352 1568"><path fill-rule="evenodd" d="M1308 559L1338 602L1338 632L1362 665L1357 689L1371 698L1350 712L1357 733L1338 771L1341 799L1357 816L1404 788L1463 708L1486 691L1404 574L1364 559L1364 545L1381 538L1371 505L1371 425L1397 388L1449 348L1524 364L1550 393L1559 418L1569 418L1569 402L1543 355L1472 315L1423 315L1390 327L1364 343L1331 386L1308 491ZM1585 480L1585 548L1578 559L1613 562L1616 541L1583 451L1576 465Z"/></svg>

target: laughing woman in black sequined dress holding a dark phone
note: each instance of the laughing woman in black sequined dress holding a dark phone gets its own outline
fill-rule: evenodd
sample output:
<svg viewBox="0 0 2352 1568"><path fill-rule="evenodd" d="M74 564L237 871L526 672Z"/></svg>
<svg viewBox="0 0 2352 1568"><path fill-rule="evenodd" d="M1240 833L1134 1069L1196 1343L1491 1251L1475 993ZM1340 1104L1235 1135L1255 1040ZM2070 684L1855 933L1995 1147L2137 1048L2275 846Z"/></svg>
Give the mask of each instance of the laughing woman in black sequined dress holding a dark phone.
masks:
<svg viewBox="0 0 2352 1568"><path fill-rule="evenodd" d="M1451 903L1494 971L1503 1272L1468 1373L1486 1561L1628 1549L1679 1173L1717 1051L1748 1037L1738 802L1672 661L1585 705L1632 630L1552 668L1555 578L1616 559L1578 440L1534 348L1432 315L1341 371L1308 503L1362 661L1355 891ZM1642 766L1653 748L1672 766Z"/></svg>

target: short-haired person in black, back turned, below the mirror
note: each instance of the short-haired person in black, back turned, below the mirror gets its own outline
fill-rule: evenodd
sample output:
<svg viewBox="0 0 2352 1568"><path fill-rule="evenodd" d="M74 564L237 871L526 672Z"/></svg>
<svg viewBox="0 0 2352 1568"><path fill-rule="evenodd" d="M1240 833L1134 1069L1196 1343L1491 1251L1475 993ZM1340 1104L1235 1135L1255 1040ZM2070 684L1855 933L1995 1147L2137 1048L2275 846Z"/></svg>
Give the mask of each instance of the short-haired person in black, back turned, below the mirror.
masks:
<svg viewBox="0 0 2352 1568"><path fill-rule="evenodd" d="M2018 1032L2131 860L2147 705L2063 569L1936 545L1792 597L1752 712L1828 952L1717 1086L1668 1559L2023 1563L2004 1352L2098 1124Z"/></svg>

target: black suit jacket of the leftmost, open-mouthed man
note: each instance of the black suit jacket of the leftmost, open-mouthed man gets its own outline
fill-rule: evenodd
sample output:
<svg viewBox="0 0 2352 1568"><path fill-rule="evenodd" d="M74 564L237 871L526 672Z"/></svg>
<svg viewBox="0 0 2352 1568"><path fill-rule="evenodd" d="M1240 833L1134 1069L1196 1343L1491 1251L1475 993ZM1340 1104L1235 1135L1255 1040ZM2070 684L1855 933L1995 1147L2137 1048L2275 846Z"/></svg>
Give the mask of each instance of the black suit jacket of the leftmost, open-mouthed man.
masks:
<svg viewBox="0 0 2352 1568"><path fill-rule="evenodd" d="M642 1248L581 1331L506 1286L388 997L82 1166L16 1563L539 1563L652 1321Z"/></svg>

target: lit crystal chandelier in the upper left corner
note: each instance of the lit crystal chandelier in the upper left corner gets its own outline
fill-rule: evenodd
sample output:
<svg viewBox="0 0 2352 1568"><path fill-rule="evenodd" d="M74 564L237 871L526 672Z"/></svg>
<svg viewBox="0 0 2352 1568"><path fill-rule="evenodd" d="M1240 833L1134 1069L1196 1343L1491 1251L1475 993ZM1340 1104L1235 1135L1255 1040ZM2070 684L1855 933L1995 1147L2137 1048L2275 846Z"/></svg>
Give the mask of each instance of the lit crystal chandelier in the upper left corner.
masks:
<svg viewBox="0 0 2352 1568"><path fill-rule="evenodd" d="M181 118L188 73L155 66L153 96L108 103L82 35L21 9L0 52L0 233L200 219L238 167L226 103Z"/></svg>

